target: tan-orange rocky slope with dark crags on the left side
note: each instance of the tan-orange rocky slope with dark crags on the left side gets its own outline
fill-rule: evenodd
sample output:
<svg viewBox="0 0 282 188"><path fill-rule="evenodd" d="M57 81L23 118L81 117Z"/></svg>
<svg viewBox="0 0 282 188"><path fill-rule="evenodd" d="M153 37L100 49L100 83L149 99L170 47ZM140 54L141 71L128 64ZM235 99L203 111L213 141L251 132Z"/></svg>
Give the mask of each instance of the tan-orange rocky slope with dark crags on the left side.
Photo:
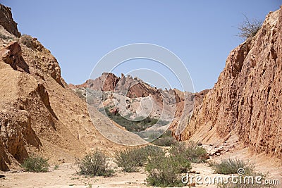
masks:
<svg viewBox="0 0 282 188"><path fill-rule="evenodd" d="M16 167L30 153L59 163L96 147L121 147L92 125L85 102L68 88L50 51L33 37L19 38L11 9L3 5L0 24L0 170ZM103 116L94 113L97 119ZM106 125L108 121L95 120Z"/></svg>

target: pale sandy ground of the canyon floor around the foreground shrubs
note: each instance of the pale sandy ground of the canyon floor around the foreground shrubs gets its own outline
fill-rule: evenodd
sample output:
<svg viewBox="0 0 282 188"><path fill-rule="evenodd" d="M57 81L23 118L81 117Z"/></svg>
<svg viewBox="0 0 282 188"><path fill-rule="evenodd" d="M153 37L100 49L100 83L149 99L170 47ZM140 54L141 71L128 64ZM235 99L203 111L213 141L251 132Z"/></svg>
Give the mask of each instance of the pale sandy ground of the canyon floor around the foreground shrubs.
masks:
<svg viewBox="0 0 282 188"><path fill-rule="evenodd" d="M250 161L255 164L255 169L259 173L268 173L269 179L280 180L282 187L282 166L278 165L279 161L275 158L269 158L264 154L255 155L247 149L238 149L228 153L223 153L221 156L216 156L212 161L220 161L224 158L240 158L244 161ZM280 161L281 162L281 161ZM113 168L114 167L113 165ZM63 163L58 169L54 166L49 168L48 173L28 173L21 170L1 172L5 178L0 179L1 187L148 187L146 185L146 173L144 169L140 169L137 173L123 173L121 168L116 168L116 173L113 177L87 177L78 175L78 167L74 163ZM228 177L228 175L216 175L214 170L208 163L192 164L193 176L201 177ZM188 187L188 186L186 186ZM197 184L196 187L216 187L214 184Z"/></svg>

